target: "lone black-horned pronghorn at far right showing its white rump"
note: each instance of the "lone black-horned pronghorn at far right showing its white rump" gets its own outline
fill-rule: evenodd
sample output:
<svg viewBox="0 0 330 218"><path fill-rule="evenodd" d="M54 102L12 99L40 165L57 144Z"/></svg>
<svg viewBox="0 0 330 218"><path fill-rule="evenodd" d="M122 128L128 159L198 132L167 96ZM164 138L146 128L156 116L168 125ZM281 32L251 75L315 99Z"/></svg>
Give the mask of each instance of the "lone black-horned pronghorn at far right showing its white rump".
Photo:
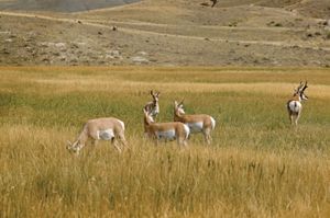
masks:
<svg viewBox="0 0 330 218"><path fill-rule="evenodd" d="M304 93L307 88L307 81L305 84L300 82L299 87L295 90L294 96L286 104L292 124L298 124L298 119L302 110L301 102L308 100L308 96Z"/></svg>

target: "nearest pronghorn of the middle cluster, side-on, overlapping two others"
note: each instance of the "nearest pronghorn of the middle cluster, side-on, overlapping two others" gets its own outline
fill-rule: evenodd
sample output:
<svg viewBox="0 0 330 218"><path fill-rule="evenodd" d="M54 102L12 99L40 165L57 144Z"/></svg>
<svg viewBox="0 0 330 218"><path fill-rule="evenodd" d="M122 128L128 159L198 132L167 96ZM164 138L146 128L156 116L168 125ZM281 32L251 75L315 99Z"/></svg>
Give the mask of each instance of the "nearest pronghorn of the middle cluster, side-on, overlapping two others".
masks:
<svg viewBox="0 0 330 218"><path fill-rule="evenodd" d="M148 138L158 144L160 140L177 140L178 145L187 146L189 127L180 122L155 123L150 112L143 108L144 129Z"/></svg>

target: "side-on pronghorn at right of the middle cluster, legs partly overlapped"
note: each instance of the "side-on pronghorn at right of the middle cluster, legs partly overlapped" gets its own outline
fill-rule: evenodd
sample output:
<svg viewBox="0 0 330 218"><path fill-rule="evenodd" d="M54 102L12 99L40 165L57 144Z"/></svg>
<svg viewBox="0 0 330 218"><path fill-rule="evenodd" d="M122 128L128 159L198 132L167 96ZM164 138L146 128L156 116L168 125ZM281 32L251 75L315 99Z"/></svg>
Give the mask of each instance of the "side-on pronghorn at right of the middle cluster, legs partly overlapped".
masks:
<svg viewBox="0 0 330 218"><path fill-rule="evenodd" d="M211 130L216 127L215 118L206 114L186 115L183 102L174 102L174 121L188 125L191 134L202 133L206 142L211 144Z"/></svg>

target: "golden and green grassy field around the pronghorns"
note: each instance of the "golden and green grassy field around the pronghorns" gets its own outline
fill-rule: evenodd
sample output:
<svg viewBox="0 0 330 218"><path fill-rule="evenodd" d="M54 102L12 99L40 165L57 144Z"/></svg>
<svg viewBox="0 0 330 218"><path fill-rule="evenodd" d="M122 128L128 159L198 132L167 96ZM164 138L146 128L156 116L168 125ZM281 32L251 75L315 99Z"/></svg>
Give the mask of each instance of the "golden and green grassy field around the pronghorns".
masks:
<svg viewBox="0 0 330 218"><path fill-rule="evenodd" d="M0 217L329 217L330 70L0 68ZM308 80L299 126L285 104ZM217 119L213 144L144 140L142 106L161 91ZM65 149L82 124L114 116L130 150Z"/></svg>

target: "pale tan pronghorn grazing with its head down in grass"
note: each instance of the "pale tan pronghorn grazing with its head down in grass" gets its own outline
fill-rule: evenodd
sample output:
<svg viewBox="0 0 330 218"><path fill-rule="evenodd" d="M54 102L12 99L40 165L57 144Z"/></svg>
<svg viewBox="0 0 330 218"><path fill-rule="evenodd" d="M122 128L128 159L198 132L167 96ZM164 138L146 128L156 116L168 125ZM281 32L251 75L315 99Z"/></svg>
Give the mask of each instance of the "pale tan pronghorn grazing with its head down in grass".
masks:
<svg viewBox="0 0 330 218"><path fill-rule="evenodd" d="M127 146L124 129L124 123L118 118L107 117L89 119L84 125L82 131L77 140L73 144L68 141L69 145L67 149L75 153L79 153L90 138L94 140L95 145L97 145L100 139L111 140L112 145L121 152L121 149L117 145L117 139L119 139L123 146Z"/></svg>

